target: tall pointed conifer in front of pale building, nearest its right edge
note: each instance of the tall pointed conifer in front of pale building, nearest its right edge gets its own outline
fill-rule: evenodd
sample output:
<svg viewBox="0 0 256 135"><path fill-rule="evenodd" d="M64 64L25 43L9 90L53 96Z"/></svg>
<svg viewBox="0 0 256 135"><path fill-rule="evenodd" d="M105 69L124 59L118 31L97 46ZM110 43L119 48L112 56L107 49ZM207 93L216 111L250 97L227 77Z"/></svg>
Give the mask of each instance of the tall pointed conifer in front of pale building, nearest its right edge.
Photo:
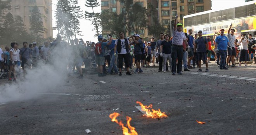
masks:
<svg viewBox="0 0 256 135"><path fill-rule="evenodd" d="M40 10L37 6L33 8L29 22L31 35L35 38L35 41L42 42L42 34L45 32L45 29Z"/></svg>

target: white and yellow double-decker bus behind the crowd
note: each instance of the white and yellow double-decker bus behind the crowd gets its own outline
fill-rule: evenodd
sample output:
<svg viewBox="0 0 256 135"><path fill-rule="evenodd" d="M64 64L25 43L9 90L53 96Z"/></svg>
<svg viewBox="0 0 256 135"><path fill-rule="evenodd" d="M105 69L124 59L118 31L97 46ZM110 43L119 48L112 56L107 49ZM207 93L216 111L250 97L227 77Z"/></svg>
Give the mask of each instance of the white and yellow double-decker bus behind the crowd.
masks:
<svg viewBox="0 0 256 135"><path fill-rule="evenodd" d="M242 34L252 34L256 37L256 0L245 2L243 5L223 10L208 10L183 17L183 30L193 30L193 34L202 30L203 36L210 35L213 39L215 32L225 29L227 34L230 24L235 29L236 39Z"/></svg>

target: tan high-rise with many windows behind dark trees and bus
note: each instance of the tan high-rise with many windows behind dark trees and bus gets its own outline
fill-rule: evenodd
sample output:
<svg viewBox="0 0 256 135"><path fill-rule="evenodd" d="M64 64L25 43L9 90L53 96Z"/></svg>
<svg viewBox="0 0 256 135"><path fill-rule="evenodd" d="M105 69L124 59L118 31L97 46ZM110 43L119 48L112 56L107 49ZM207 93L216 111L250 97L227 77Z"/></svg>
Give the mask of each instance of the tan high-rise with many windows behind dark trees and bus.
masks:
<svg viewBox="0 0 256 135"><path fill-rule="evenodd" d="M178 15L178 22L183 23L183 16L194 14L206 10L211 10L211 0L133 0L140 2L143 7L147 8L147 4L151 3L157 9L158 19L165 27L175 20L175 15ZM101 0L101 10L109 9L112 12L120 14L125 7L118 0ZM149 25L151 19L149 17ZM104 29L102 29L104 31ZM104 32L103 32L104 33ZM148 30L142 31L143 37L150 37Z"/></svg>

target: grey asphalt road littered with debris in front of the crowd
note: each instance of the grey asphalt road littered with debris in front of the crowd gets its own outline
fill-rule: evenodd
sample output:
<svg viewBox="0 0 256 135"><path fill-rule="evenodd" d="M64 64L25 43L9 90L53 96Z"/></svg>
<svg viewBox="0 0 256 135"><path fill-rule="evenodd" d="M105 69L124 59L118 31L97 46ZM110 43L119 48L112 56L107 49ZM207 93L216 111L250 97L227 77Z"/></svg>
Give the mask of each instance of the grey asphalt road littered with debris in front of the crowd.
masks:
<svg viewBox="0 0 256 135"><path fill-rule="evenodd" d="M123 123L130 116L139 135L256 134L255 64L228 71L211 64L208 73L195 68L175 76L157 72L158 67L143 70L131 76L124 71L122 76L72 75L28 100L1 103L0 134L85 135L90 129L92 135L121 135L109 118L113 112ZM142 116L136 101L160 108L168 118Z"/></svg>

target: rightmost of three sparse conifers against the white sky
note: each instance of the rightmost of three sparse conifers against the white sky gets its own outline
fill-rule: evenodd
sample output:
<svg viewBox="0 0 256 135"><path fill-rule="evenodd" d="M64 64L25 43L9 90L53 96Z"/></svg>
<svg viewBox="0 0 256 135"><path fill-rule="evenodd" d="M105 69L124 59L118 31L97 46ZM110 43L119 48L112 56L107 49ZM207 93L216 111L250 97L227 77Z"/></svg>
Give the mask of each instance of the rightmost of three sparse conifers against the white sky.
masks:
<svg viewBox="0 0 256 135"><path fill-rule="evenodd" d="M85 6L92 8L92 12L85 11L85 19L92 21L92 25L94 25L93 30L96 30L96 37L100 35L101 20L100 13L95 13L93 8L100 6L100 4L97 0L86 0Z"/></svg>

